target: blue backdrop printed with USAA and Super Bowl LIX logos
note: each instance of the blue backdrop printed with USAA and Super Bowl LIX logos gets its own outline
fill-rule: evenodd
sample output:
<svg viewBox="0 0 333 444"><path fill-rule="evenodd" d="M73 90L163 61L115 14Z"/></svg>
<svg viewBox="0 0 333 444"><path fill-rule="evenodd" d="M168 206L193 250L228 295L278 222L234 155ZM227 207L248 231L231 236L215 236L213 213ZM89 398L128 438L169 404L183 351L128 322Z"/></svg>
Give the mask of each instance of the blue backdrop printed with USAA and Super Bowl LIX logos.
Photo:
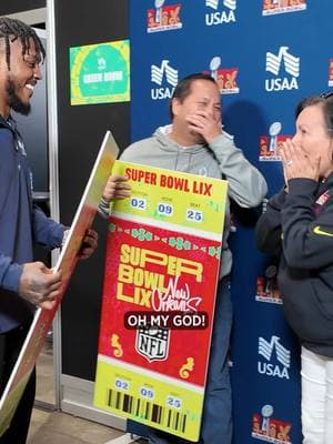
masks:
<svg viewBox="0 0 333 444"><path fill-rule="evenodd" d="M276 145L294 133L296 103L333 84L332 16L331 0L130 1L132 141L169 122L178 80L211 72L225 130L272 195L283 184ZM235 213L231 234L234 443L297 444L299 346L275 265L255 250L252 220Z"/></svg>

